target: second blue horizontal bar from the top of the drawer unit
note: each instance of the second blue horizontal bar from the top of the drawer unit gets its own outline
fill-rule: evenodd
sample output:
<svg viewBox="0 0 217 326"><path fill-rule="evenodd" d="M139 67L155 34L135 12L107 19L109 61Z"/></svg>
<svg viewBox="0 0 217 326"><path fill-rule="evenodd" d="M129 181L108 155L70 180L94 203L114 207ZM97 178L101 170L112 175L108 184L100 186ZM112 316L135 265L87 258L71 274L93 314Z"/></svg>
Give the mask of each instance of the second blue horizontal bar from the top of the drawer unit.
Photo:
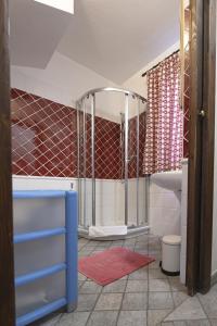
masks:
<svg viewBox="0 0 217 326"><path fill-rule="evenodd" d="M27 241L34 241L43 238L60 236L60 235L64 235L65 233L66 233L65 227L59 227L53 229L44 229L44 230L39 230L39 231L34 231L28 234L15 235L14 243L21 243L21 242L27 242Z"/></svg>

